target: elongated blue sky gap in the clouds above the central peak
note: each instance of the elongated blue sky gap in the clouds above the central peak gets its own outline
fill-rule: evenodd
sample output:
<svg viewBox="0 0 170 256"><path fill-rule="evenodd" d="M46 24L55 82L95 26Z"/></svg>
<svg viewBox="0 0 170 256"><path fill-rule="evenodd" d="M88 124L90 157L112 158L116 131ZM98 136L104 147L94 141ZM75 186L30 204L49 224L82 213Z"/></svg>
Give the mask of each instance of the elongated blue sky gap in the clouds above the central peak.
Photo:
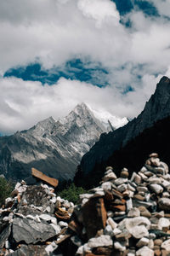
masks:
<svg viewBox="0 0 170 256"><path fill-rule="evenodd" d="M27 67L14 67L4 73L4 77L16 77L25 81L40 81L42 84L55 84L61 77L80 80L99 87L108 85L108 71L100 63L73 59L63 67L42 68L40 63L31 63Z"/></svg>

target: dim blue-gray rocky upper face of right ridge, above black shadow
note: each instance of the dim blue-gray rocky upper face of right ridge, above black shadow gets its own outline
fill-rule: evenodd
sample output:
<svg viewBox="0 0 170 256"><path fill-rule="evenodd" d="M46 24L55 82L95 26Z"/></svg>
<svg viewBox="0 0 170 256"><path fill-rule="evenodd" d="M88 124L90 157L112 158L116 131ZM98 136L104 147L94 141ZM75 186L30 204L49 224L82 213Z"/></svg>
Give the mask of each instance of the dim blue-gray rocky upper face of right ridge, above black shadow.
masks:
<svg viewBox="0 0 170 256"><path fill-rule="evenodd" d="M88 172L92 172L95 166L99 166L99 163L106 162L116 150L169 114L170 79L163 77L157 84L155 93L150 97L149 102L146 102L144 110L137 118L116 131L103 134L99 142L95 143L94 147L82 157L80 172L88 175Z"/></svg>

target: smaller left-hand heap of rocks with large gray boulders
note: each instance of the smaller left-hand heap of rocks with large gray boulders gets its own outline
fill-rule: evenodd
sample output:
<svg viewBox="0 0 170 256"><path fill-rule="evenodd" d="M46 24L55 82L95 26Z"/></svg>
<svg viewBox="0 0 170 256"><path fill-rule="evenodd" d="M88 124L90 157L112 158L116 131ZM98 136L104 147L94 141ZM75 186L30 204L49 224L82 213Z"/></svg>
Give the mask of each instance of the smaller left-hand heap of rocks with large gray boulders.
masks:
<svg viewBox="0 0 170 256"><path fill-rule="evenodd" d="M47 184L16 183L0 209L0 255L53 255L73 210Z"/></svg>

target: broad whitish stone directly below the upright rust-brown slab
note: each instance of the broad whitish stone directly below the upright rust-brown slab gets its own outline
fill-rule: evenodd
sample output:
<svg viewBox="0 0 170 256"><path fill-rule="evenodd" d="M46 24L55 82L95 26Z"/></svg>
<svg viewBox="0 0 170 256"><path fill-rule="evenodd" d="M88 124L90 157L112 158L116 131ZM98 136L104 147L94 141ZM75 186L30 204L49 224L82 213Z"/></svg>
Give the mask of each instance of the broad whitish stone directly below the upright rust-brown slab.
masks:
<svg viewBox="0 0 170 256"><path fill-rule="evenodd" d="M113 245L113 241L111 239L111 236L108 235L102 235L99 237L90 238L88 240L88 247L94 248L94 247L110 247Z"/></svg>

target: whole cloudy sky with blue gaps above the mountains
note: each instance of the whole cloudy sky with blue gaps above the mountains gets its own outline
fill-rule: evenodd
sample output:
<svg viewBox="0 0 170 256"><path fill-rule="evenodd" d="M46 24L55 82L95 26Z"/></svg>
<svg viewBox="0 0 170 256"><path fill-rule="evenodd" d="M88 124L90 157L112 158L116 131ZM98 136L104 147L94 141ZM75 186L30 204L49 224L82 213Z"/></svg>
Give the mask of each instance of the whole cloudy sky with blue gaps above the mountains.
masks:
<svg viewBox="0 0 170 256"><path fill-rule="evenodd" d="M169 0L0 1L0 134L81 102L133 119L163 75Z"/></svg>

